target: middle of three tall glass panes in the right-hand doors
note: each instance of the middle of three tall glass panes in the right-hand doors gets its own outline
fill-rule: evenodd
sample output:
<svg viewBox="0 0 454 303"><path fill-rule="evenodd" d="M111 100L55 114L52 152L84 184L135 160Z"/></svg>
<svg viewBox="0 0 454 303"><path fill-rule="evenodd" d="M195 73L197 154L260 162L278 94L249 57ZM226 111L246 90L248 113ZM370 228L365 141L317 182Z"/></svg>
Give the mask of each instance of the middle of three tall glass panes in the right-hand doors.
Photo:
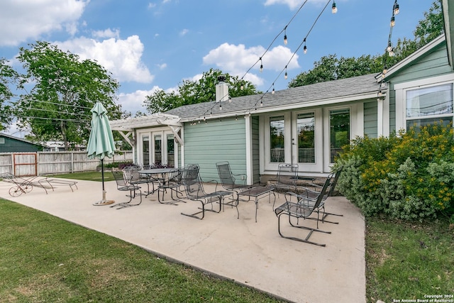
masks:
<svg viewBox="0 0 454 303"><path fill-rule="evenodd" d="M298 162L315 163L315 114L299 114L297 118Z"/></svg>

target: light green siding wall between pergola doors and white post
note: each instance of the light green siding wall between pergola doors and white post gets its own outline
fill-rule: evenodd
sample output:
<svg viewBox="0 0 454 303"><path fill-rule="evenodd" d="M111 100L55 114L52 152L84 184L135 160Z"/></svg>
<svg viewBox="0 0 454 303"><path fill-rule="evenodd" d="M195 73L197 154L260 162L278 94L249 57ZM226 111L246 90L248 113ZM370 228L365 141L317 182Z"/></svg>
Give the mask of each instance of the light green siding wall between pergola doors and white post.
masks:
<svg viewBox="0 0 454 303"><path fill-rule="evenodd" d="M228 161L234 174L246 174L245 119L184 124L184 164L200 165L202 180L219 182L216 162Z"/></svg>

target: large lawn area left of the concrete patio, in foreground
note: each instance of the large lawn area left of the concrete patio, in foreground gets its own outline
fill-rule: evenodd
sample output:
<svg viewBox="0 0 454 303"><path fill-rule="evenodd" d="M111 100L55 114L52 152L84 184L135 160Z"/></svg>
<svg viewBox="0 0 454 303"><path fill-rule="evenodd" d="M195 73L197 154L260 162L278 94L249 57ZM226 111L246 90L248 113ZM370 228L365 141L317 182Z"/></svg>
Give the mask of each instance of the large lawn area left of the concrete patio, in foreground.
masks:
<svg viewBox="0 0 454 303"><path fill-rule="evenodd" d="M0 302L279 302L0 199Z"/></svg>

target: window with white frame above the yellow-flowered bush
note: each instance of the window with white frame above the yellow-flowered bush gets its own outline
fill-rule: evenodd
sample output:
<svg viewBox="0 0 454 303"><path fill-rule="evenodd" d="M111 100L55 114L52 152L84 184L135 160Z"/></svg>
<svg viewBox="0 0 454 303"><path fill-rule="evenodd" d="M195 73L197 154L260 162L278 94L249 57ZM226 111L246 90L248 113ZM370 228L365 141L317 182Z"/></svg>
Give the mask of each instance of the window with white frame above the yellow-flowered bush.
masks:
<svg viewBox="0 0 454 303"><path fill-rule="evenodd" d="M453 83L406 91L406 128L453 121Z"/></svg>

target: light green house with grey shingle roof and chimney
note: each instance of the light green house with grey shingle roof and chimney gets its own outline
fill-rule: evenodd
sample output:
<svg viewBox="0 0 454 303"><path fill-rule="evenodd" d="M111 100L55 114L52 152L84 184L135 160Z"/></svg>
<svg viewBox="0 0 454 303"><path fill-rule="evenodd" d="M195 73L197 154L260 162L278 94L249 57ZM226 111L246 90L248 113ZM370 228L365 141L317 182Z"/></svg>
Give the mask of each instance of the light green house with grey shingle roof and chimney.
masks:
<svg viewBox="0 0 454 303"><path fill-rule="evenodd" d="M454 5L442 4L445 34L384 75L232 99L220 79L214 101L111 121L111 128L131 143L135 162L199 164L204 180L218 180L218 161L229 161L248 184L275 176L281 162L297 164L302 176L328 175L341 147L357 136L453 122Z"/></svg>

